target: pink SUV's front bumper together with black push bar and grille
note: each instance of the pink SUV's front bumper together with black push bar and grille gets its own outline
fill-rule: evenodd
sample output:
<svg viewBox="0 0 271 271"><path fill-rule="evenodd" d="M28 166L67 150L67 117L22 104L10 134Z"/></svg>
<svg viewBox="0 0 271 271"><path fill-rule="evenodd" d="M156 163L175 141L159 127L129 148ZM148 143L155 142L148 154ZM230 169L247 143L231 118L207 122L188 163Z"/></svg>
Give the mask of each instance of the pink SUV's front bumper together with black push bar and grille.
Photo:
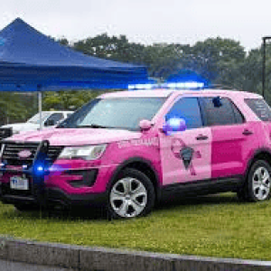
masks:
<svg viewBox="0 0 271 271"><path fill-rule="evenodd" d="M30 150L32 156L18 158L22 149ZM5 142L0 166L0 200L5 203L67 206L105 203L107 183L117 164L101 164L100 160L56 160L60 150L61 147L50 146L46 141L40 144ZM8 152L12 152L12 159ZM31 161L28 163L28 160ZM39 167L43 168L42 173L38 171ZM28 179L28 189L11 189L10 182L14 176Z"/></svg>

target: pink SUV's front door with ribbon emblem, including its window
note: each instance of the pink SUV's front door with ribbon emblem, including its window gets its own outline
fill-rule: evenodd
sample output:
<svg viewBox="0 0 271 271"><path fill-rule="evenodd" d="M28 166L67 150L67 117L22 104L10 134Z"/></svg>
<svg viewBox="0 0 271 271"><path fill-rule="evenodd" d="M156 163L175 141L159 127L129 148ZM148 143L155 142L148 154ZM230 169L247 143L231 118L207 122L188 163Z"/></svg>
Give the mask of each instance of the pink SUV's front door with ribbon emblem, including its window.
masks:
<svg viewBox="0 0 271 271"><path fill-rule="evenodd" d="M202 126L198 98L180 98L164 116L183 118L187 129L172 135L161 133L163 184L210 179L210 127Z"/></svg>

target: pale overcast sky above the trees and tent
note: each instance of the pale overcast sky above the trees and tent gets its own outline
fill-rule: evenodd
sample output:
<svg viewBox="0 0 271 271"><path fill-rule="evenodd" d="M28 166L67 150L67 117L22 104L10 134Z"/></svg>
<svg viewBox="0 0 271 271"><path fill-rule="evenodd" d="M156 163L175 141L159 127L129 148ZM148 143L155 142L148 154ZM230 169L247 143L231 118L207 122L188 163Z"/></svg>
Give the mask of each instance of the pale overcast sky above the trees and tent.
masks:
<svg viewBox="0 0 271 271"><path fill-rule="evenodd" d="M271 0L0 0L0 7L0 29L21 17L73 42L100 33L145 44L220 36L249 50L271 36Z"/></svg>

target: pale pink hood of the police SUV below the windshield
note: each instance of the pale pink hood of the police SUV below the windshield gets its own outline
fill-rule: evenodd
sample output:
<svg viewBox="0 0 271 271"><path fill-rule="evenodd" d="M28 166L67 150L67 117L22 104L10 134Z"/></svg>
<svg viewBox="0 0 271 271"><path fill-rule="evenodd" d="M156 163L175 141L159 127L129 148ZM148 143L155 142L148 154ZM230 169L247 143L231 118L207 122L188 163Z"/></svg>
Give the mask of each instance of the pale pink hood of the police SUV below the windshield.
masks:
<svg viewBox="0 0 271 271"><path fill-rule="evenodd" d="M8 139L30 142L49 140L51 145L96 145L140 138L141 135L142 134L140 132L131 132L117 129L52 128L38 132L27 132L23 134L13 135Z"/></svg>

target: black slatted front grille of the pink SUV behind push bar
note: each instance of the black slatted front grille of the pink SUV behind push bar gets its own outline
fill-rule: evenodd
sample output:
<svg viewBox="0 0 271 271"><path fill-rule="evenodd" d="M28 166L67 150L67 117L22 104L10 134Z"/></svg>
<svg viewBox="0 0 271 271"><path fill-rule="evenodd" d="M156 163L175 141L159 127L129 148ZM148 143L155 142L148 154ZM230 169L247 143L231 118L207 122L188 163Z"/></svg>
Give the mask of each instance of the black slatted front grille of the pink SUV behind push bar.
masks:
<svg viewBox="0 0 271 271"><path fill-rule="evenodd" d="M8 165L32 165L35 155L37 154L40 143L38 142L3 142L3 154L2 161L5 161ZM47 156L45 158L48 164L53 164L53 162L61 154L62 146L49 146ZM31 155L27 158L19 157L21 151L30 151Z"/></svg>

